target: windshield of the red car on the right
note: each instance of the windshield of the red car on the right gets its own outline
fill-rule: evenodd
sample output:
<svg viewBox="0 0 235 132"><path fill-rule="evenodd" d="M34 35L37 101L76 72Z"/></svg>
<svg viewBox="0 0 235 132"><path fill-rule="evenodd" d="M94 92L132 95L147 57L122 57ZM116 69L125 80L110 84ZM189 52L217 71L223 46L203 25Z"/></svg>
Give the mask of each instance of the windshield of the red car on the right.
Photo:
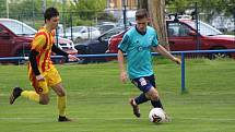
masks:
<svg viewBox="0 0 235 132"><path fill-rule="evenodd" d="M192 28L197 28L196 27L196 22L195 21L190 21L187 22ZM222 32L218 31L216 28L212 27L211 25L203 23L201 21L199 21L198 24L198 28L199 28L199 33L203 36L214 36L214 35L221 35Z"/></svg>

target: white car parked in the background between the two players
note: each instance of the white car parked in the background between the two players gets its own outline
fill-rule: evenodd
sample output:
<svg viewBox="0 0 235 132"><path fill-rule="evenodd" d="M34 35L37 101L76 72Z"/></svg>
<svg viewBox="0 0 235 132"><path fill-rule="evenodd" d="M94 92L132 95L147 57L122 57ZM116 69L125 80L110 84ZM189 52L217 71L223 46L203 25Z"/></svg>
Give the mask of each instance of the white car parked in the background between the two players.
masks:
<svg viewBox="0 0 235 132"><path fill-rule="evenodd" d="M98 28L94 26L73 26L66 28L64 36L75 43L81 39L92 39L101 35Z"/></svg>

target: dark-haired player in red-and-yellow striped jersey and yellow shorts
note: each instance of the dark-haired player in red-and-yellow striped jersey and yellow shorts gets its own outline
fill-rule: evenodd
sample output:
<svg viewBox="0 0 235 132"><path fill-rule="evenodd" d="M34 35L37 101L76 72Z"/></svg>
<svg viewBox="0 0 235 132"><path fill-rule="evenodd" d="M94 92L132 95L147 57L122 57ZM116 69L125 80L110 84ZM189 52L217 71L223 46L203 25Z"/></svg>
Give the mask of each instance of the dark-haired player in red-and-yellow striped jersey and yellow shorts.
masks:
<svg viewBox="0 0 235 132"><path fill-rule="evenodd" d="M55 8L48 8L45 13L45 25L36 33L31 46L28 79L35 91L24 91L21 87L14 87L10 104L23 96L30 100L47 105L49 103L49 87L57 94L59 109L59 122L71 121L66 117L67 95L62 86L60 74L50 60L51 51L68 57L71 60L78 60L75 56L69 55L59 49L54 44L55 29L59 23L59 12Z"/></svg>

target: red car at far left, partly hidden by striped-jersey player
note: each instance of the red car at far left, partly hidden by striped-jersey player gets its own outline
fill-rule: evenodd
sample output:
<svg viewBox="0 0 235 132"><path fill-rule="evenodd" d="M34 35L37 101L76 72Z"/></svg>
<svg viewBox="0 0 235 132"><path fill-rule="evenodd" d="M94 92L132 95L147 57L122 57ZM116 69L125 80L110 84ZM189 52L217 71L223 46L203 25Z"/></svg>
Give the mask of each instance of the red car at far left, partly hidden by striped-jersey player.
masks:
<svg viewBox="0 0 235 132"><path fill-rule="evenodd" d="M36 32L17 20L0 19L0 57L27 57ZM67 52L78 52L69 39L59 37L55 44Z"/></svg>

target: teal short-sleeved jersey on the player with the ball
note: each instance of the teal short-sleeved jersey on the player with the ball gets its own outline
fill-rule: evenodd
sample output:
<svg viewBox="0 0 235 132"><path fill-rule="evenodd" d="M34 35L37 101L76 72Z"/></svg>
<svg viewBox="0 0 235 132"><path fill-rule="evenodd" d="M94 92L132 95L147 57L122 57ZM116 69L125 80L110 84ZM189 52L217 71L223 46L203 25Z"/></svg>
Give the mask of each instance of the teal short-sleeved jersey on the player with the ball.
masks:
<svg viewBox="0 0 235 132"><path fill-rule="evenodd" d="M148 26L144 35L141 35L136 27L131 27L125 34L118 49L127 53L129 79L153 74L151 47L157 45L157 37L153 27Z"/></svg>

